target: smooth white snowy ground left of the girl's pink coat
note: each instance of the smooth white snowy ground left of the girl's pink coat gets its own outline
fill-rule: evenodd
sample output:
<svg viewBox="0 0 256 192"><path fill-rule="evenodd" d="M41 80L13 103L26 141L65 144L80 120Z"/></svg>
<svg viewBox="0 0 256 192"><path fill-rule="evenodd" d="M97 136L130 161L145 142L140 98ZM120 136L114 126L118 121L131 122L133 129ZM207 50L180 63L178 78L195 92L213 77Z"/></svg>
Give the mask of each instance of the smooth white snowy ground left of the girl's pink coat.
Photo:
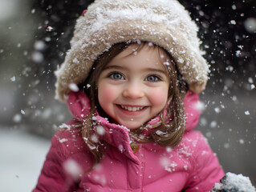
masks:
<svg viewBox="0 0 256 192"><path fill-rule="evenodd" d="M1 191L31 191L37 182L50 144L48 139L1 127Z"/></svg>

